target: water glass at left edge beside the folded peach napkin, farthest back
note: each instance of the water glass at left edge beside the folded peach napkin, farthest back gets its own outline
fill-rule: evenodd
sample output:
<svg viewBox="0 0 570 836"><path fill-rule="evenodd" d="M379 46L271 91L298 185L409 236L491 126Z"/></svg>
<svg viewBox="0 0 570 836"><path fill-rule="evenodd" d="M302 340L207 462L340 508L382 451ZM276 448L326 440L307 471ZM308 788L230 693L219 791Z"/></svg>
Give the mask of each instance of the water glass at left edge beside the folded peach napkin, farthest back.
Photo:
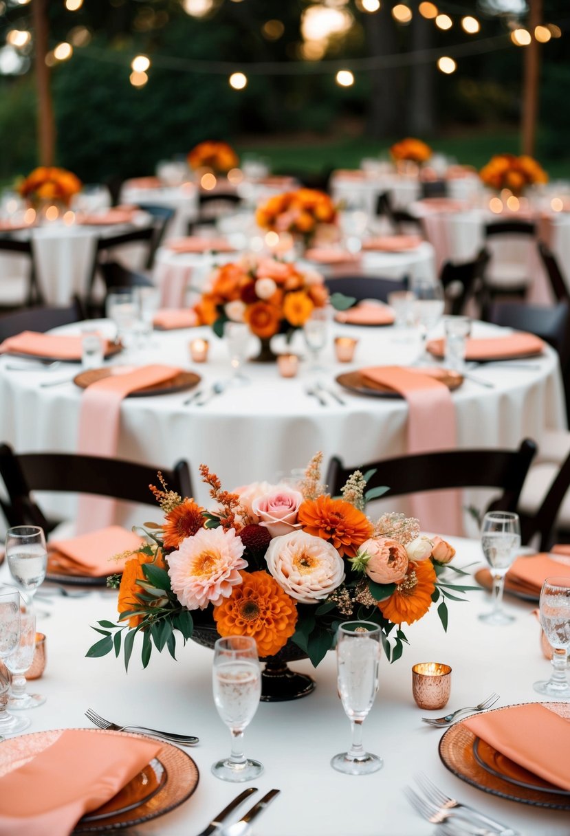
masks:
<svg viewBox="0 0 570 836"><path fill-rule="evenodd" d="M13 579L26 594L28 606L33 606L33 596L43 583L48 567L48 551L43 528L35 525L18 525L8 528L6 557Z"/></svg>

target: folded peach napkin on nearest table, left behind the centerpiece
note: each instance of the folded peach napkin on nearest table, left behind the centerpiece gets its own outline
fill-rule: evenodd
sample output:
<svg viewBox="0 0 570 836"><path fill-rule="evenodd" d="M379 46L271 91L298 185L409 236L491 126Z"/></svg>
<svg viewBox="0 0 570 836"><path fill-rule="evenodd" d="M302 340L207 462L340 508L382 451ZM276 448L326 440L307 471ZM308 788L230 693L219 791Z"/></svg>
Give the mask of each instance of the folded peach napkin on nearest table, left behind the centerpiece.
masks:
<svg viewBox="0 0 570 836"><path fill-rule="evenodd" d="M134 552L142 543L137 534L118 525L69 540L53 540L48 543L49 569L52 572L104 578L125 568L125 560L110 562L110 558L115 554Z"/></svg>

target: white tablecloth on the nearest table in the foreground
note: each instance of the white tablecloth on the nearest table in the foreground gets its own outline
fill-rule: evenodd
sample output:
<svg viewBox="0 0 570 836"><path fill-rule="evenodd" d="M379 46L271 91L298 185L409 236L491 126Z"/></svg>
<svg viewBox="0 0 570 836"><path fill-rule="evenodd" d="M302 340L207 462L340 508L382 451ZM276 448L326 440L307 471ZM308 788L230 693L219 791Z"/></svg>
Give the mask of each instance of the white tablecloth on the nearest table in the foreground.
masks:
<svg viewBox="0 0 570 836"><path fill-rule="evenodd" d="M472 541L453 541L459 564L481 560ZM8 570L0 570L8 580ZM532 683L550 675L542 657L533 604L506 599L517 621L497 628L481 624L477 614L488 609L485 593L471 592L468 603L450 603L450 624L444 633L435 612L405 633L410 640L404 656L393 665L382 660L376 701L364 722L364 745L384 758L384 768L367 777L334 772L330 758L349 745L349 721L338 700L333 653L316 671L308 661L293 669L312 673L317 687L303 700L262 703L245 733L245 752L264 764L255 782L259 793L245 803L247 810L270 788L282 793L257 820L253 832L263 836L430 836L434 826L414 812L402 792L416 772L425 772L445 793L471 804L525 836L567 836L568 813L507 801L472 788L440 762L441 732L421 723L421 711L411 696L411 665L440 661L451 665L449 708L470 706L496 691L499 706L537 701ZM109 590L87 598L56 597L49 618L38 619L47 635L48 664L43 679L30 683L47 696L43 706L28 711L29 732L88 726L88 707L119 723L138 723L172 732L195 734L200 744L188 753L200 770L196 793L164 817L136 826L140 836L193 836L244 785L213 777L211 764L229 753L230 737L217 716L211 696L212 651L190 642L180 646L177 661L153 651L142 670L140 641L135 643L130 670L115 655L86 659L97 635L89 625L115 621L115 594ZM440 716L443 711L431 712ZM1 745L1 744L0 744ZM234 814L235 819L242 814Z"/></svg>

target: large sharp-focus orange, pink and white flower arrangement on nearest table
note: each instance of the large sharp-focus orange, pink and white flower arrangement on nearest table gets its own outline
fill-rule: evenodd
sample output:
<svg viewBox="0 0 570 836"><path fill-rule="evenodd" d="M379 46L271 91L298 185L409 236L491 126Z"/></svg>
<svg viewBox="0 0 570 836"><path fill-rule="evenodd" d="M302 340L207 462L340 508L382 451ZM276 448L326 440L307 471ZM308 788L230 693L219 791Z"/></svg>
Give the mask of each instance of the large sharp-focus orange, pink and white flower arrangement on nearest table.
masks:
<svg viewBox="0 0 570 836"><path fill-rule="evenodd" d="M233 492L201 465L211 511L164 482L161 490L150 486L164 520L146 523L145 545L121 555L122 577L108 579L119 589L119 624L99 621L103 638L87 655L119 655L124 637L128 665L140 633L145 667L153 645L174 656L176 630L186 641L207 624L216 637L252 636L265 660L293 643L316 666L339 622L358 618L380 625L384 651L396 660L406 641L403 625L438 601L446 629L445 599L476 589L442 577L455 550L439 537L420 536L418 520L403 514L369 519L365 502L388 490L367 492L372 472L354 472L342 497L330 497L321 461L322 454L313 456L294 489L256 482Z"/></svg>

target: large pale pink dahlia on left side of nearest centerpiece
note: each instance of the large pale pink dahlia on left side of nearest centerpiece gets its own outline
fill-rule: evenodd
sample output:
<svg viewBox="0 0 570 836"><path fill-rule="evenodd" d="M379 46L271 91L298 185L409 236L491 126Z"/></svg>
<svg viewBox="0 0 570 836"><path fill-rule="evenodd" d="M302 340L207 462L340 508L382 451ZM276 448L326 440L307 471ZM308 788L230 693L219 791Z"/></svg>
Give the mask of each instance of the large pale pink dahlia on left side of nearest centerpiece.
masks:
<svg viewBox="0 0 570 836"><path fill-rule="evenodd" d="M242 583L239 570L246 568L244 546L235 528L201 528L168 556L172 591L182 606L205 609L220 604Z"/></svg>

